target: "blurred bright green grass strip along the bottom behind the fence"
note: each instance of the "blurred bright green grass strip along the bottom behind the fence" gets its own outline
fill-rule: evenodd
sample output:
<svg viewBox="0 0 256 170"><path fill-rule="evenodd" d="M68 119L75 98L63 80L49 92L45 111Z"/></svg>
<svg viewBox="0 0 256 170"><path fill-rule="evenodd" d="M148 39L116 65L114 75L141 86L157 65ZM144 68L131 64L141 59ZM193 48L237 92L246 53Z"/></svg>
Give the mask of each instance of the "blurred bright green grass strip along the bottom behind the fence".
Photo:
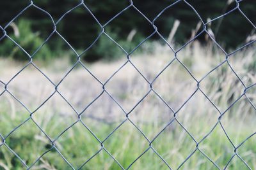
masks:
<svg viewBox="0 0 256 170"><path fill-rule="evenodd" d="M20 115L22 115L22 113L20 113ZM7 134L8 131L10 131L10 128L8 128L10 124L16 124L20 121L20 117L15 117L11 120L6 113L1 114L1 118L3 118L3 121L1 121L3 123L0 125L1 134ZM19 118L19 120L16 120L17 118ZM23 120L25 120L26 117L23 118ZM47 129L45 131L54 136L54 132L59 131L58 129L65 129L65 127L58 126L59 121L58 117L51 118L51 121L47 122ZM88 127L92 129L92 131L97 134L97 138L102 141L108 136L109 132L113 131L117 126L117 124L109 125L95 122L95 120L88 121L91 122L88 124ZM67 122L68 124L72 124L72 122ZM54 124L56 124L56 126ZM199 125L200 127L207 127L204 121L200 121ZM152 140L161 125L139 123L138 126L144 129L143 132L147 134L147 136L152 136L150 139ZM246 127L244 129L246 130ZM246 135L243 134L246 133L242 133L242 135L239 136L241 140L246 138ZM234 136L236 136L235 128L230 138L234 138ZM10 146L28 166L33 164L42 153L52 148L51 143L47 140L45 135L40 132L40 129L36 127L32 120L28 120L28 122L8 136L6 145ZM93 137L81 122L77 122L77 124L68 129L68 131L56 141L58 151L60 151L76 169L97 152L99 153L85 164L82 169L121 169L113 158L111 158L109 153L111 153L124 168L127 168L149 147L147 139L143 137L129 120L126 120L124 124L111 134L111 136L104 141L103 145L104 147L100 146L99 141ZM152 148L154 148L173 169L177 169L186 157L196 149L196 143L182 130L177 122L173 122L153 141ZM159 156L153 152L152 148L132 164L131 169L168 169ZM218 124L216 129L200 143L199 148L221 169L225 167L230 157L234 154L234 148L227 140L220 124ZM0 150L1 164L4 164L9 169L24 169L17 157L15 157L6 146L1 146ZM238 149L237 153L239 153L250 167L253 169L256 167L255 138L246 141L246 143ZM34 167L42 169L43 167L45 169L70 169L55 148L52 148L50 152L46 153L36 162ZM199 150L196 150L180 169L191 169L191 167L193 167L193 169L216 169L212 162L200 153ZM1 168L3 169L3 167ZM246 169L246 167L236 156L232 162L230 162L228 169Z"/></svg>

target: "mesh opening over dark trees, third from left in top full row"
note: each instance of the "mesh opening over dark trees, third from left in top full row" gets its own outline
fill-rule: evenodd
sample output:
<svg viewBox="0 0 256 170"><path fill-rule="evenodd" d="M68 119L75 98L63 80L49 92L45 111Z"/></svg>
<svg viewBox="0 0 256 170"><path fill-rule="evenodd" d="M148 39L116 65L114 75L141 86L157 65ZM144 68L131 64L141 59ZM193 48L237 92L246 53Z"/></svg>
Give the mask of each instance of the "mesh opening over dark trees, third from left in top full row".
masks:
<svg viewBox="0 0 256 170"><path fill-rule="evenodd" d="M136 19L136 21L134 21L134 19ZM126 22L124 22L124 20ZM131 25L129 22L134 22L134 24ZM122 29L118 27L118 25L121 24L124 25ZM138 31L143 33L137 34ZM119 39L115 38L115 36L113 39L122 45L127 52L131 52L143 39L150 36L153 32L154 27L134 8L125 10L106 25L106 33L109 35L111 35L111 33L116 34ZM121 38L126 40L121 41Z"/></svg>

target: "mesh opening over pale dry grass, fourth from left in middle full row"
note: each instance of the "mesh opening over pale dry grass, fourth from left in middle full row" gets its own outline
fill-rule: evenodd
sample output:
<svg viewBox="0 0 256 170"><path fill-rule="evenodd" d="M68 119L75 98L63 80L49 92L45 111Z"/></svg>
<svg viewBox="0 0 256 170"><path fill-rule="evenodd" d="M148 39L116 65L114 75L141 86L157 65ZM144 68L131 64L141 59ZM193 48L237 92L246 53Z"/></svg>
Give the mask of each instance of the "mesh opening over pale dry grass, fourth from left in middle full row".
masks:
<svg viewBox="0 0 256 170"><path fill-rule="evenodd" d="M173 60L154 81L153 89L176 111L193 95L197 87L188 71L177 60Z"/></svg>

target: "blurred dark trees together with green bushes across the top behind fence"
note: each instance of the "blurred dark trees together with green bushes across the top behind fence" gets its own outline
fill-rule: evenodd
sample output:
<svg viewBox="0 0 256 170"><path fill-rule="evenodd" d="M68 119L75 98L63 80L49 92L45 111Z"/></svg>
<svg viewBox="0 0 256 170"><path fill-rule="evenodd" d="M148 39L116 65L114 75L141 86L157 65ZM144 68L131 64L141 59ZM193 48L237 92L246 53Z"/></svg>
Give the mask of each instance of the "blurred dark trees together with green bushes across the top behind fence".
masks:
<svg viewBox="0 0 256 170"><path fill-rule="evenodd" d="M79 4L79 1L33 1L40 8L47 10L56 22L65 12ZM133 1L134 5L140 10L149 20L153 20L166 6L175 1ZM2 27L12 20L21 10L28 6L28 1L3 1L1 2L1 18L0 24ZM216 18L227 11L236 7L235 1L188 1L200 14L202 20L207 22ZM86 1L86 6L92 11L100 24L106 24L111 18L118 14L125 7L129 6L129 1L112 1L106 0L103 2ZM255 3L252 0L243 1L240 3L241 10L255 24ZM181 45L191 38L191 32L196 29L196 25L200 23L200 18L186 3L177 3L173 7L164 11L154 23L158 31L168 39L172 31L175 20L179 20L180 24L174 34L175 43ZM238 10L230 13L224 18L220 18L208 25L211 29L216 41L226 48L236 48L243 45L244 41L248 41L248 36L255 34L250 22L248 22ZM6 29L8 35L18 43L22 43L28 52L33 53L53 31L54 27L51 18L36 8L31 8L24 11L14 24ZM143 39L147 38L154 29L152 25L136 10L130 9L124 11L120 16L109 22L104 27L105 31L115 39L125 50L132 50ZM65 15L57 25L57 31L67 39L70 45L78 51L83 51L97 38L101 29L89 11L86 11L83 6L79 6L75 10ZM202 25L196 29L194 34L202 31ZM130 35L130 36L129 36ZM148 41L159 39L153 36ZM199 38L204 42L204 36ZM91 50L86 52L83 59L86 61L95 61L98 59L115 59L120 58L120 53L117 46L109 42L104 36L93 46ZM1 41L1 56L14 57L15 59L27 59L19 52L13 52L13 43ZM44 50L40 50L35 59L61 57L66 52L66 46L63 40L58 36L52 36ZM19 51L19 50L17 50ZM140 49L138 49L140 51Z"/></svg>

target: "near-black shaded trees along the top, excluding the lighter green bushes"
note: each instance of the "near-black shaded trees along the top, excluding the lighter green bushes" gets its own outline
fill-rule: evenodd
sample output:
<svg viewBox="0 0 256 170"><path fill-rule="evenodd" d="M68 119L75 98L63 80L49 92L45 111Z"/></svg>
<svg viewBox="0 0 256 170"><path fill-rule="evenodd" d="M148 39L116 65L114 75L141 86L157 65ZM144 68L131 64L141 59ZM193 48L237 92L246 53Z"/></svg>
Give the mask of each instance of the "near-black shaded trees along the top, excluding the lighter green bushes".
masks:
<svg viewBox="0 0 256 170"><path fill-rule="evenodd" d="M149 20L153 20L158 13L160 13L166 6L172 4L174 1L170 0L134 0L134 6L138 8ZM56 22L63 13L70 10L77 4L78 0L34 0L34 4L48 11ZM108 20L114 17L118 12L129 6L128 0L104 0L95 1L87 0L84 1L86 6L90 8L92 13L95 15L100 24L104 25ZM216 18L223 13L232 10L236 7L236 3L232 1L225 0L189 0L190 3L196 11L198 11L200 17L204 22L209 19ZM6 25L19 11L24 7L28 6L29 1L1 1L0 2L0 24L2 27ZM256 3L254 0L244 0L241 1L240 7L244 14L250 18L253 24L256 23ZM45 39L52 32L53 26L51 19L48 15L45 15L40 10L36 8L29 8L25 11L15 22L19 20L29 20L31 22L31 29L33 31L40 32L40 36ZM188 41L191 36L191 30L195 29L196 24L200 22L200 18L196 15L195 11L184 2L180 2L168 8L164 11L161 17L157 18L155 24L161 34L167 37L170 33L173 22L175 20L180 21L178 31L175 34L175 41L177 43L184 43ZM228 48L236 48L237 46L244 43L247 36L252 34L253 26L246 20L246 18L239 13L238 10L233 11L223 19L218 19L209 25L216 40L221 43L221 45L227 46ZM76 10L68 13L57 26L57 30L63 35L64 38L70 42L77 50L83 51L86 49L99 34L100 26L97 21L90 15L88 11L83 6L79 6ZM129 32L133 29L136 30L136 34L132 41L133 46L127 48L132 48L138 44L142 39L150 35L154 29L152 25L143 18L138 11L130 8L124 11L120 16L115 18L113 21L106 25L105 30L111 36L115 38L118 42L125 42ZM8 29L7 29L8 31ZM11 30L10 30L11 31ZM154 39L154 38L152 38ZM202 39L203 41L204 39ZM103 41L103 40L102 40ZM0 42L1 43L1 42ZM106 42L107 43L107 42ZM50 48L62 48L61 41L49 41ZM104 43L97 43L97 45L102 45ZM0 44L1 45L1 44ZM127 43L126 43L127 45ZM125 46L125 43L124 43ZM106 47L108 49L108 46ZM102 50L106 50L102 48ZM95 53L95 52L94 52ZM98 59L100 53L96 53L98 56L91 57L92 59Z"/></svg>

